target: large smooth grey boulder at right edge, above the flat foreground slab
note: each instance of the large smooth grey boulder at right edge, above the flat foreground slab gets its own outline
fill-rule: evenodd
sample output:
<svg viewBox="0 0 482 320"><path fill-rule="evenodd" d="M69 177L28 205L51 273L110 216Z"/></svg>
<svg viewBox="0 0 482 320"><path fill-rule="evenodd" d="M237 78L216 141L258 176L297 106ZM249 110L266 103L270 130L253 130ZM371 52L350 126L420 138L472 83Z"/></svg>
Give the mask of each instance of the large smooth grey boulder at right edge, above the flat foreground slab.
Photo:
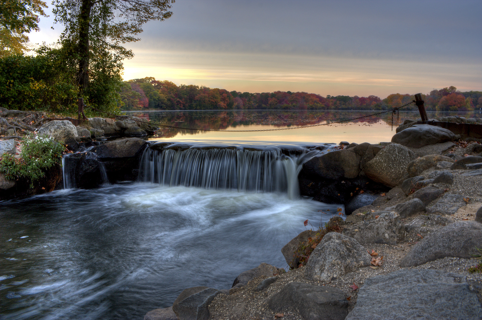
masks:
<svg viewBox="0 0 482 320"><path fill-rule="evenodd" d="M415 267L444 257L471 258L476 248L482 248L482 224L456 221L418 241L400 266Z"/></svg>

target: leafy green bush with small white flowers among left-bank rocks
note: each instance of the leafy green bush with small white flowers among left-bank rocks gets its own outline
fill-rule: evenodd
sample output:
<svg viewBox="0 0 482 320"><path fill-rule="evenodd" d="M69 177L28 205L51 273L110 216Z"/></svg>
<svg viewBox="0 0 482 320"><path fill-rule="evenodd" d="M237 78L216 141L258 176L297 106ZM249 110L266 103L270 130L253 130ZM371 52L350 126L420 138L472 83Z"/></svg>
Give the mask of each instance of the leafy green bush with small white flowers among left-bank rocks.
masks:
<svg viewBox="0 0 482 320"><path fill-rule="evenodd" d="M24 140L20 158L3 154L0 158L0 172L8 180L26 179L33 183L45 176L45 171L62 162L65 147L50 137L28 138Z"/></svg>

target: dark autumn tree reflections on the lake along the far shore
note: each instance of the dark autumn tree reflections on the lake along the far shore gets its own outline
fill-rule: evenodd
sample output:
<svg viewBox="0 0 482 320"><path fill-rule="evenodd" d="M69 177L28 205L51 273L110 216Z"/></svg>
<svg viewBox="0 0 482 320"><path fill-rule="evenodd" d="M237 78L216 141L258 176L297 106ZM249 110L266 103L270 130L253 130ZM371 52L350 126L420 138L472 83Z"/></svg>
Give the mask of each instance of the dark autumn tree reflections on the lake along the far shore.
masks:
<svg viewBox="0 0 482 320"><path fill-rule="evenodd" d="M154 123L204 130L249 130L244 128L251 125L266 125L273 129L284 127L298 127L339 120L350 120L368 116L374 111L347 111L347 110L208 110L208 111L156 111L156 112L135 112L136 117L151 120ZM464 113L465 114L465 113ZM448 113L429 112L429 118L447 116ZM453 115L453 113L451 114ZM472 114L459 115L472 117ZM405 119L419 118L418 111L401 111L393 116L393 125L398 126ZM375 124L380 121L391 125L391 112L362 119L351 120L356 124ZM200 130L188 130L179 128L165 128L158 131L155 137L174 137L177 134L199 134Z"/></svg>

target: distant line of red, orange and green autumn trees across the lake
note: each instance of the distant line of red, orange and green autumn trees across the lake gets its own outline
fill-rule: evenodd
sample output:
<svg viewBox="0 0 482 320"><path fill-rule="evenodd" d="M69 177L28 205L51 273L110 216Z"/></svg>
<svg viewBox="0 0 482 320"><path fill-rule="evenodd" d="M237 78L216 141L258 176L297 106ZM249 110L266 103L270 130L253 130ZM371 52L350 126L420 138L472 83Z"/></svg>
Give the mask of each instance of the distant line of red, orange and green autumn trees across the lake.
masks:
<svg viewBox="0 0 482 320"><path fill-rule="evenodd" d="M304 110L388 110L412 100L412 94L393 93L385 99L283 92L249 93L181 84L153 77L123 82L120 97L123 110L229 110L229 109L304 109ZM422 94L427 110L470 111L482 107L482 92L459 92L454 86ZM414 105L404 110L416 109Z"/></svg>

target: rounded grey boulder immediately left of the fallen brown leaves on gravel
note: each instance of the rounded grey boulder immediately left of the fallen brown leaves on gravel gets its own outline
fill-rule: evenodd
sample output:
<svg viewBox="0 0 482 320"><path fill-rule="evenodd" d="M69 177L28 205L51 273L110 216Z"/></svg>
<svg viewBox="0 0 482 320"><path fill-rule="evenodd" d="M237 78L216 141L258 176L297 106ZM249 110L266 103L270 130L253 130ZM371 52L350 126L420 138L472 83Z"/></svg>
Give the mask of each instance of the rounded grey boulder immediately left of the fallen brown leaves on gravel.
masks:
<svg viewBox="0 0 482 320"><path fill-rule="evenodd" d="M308 280L328 282L370 265L371 255L357 240L328 232L311 253L304 270Z"/></svg>

